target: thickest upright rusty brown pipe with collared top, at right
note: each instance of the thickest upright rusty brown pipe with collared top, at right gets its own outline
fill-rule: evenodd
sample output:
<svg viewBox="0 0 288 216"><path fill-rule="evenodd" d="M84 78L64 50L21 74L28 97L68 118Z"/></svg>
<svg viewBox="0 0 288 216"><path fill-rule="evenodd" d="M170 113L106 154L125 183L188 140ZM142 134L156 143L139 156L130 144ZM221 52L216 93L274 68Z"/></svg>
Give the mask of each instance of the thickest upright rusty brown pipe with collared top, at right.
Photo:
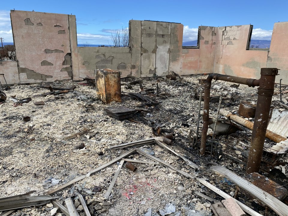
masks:
<svg viewBox="0 0 288 216"><path fill-rule="evenodd" d="M261 68L258 101L254 118L249 157L247 161L247 174L259 172L260 169L269 111L274 93L275 76L277 73L277 68Z"/></svg>

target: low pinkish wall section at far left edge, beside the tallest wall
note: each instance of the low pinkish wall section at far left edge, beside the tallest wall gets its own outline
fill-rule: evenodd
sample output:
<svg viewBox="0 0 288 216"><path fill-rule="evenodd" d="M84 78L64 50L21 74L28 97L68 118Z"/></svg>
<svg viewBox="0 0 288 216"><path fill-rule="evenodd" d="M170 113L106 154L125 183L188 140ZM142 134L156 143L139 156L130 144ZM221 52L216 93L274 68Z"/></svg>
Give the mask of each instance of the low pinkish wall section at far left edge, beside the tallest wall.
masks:
<svg viewBox="0 0 288 216"><path fill-rule="evenodd" d="M0 74L1 73L4 74L7 84L20 82L17 61L0 61ZM0 82L2 85L6 84L2 75L0 76Z"/></svg>

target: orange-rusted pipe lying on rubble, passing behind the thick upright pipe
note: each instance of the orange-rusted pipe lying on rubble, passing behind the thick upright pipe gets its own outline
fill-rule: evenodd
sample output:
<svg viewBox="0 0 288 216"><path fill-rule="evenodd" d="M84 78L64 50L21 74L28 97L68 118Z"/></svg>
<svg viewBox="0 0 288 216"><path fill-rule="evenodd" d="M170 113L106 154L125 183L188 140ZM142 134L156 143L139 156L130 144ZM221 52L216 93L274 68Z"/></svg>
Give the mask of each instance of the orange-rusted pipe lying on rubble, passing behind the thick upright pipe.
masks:
<svg viewBox="0 0 288 216"><path fill-rule="evenodd" d="M253 130L253 122L250 122L246 119L243 119L240 116L234 115L231 112L224 110L224 109L220 109L219 112L222 116L225 116L227 118L230 118L231 120L233 120L234 122L237 122L240 125L245 126L246 128L249 128L250 130ZM275 143L280 143L281 141L287 140L285 137L280 136L279 134L276 134L272 131L266 130L266 135L265 135L268 139L274 141Z"/></svg>

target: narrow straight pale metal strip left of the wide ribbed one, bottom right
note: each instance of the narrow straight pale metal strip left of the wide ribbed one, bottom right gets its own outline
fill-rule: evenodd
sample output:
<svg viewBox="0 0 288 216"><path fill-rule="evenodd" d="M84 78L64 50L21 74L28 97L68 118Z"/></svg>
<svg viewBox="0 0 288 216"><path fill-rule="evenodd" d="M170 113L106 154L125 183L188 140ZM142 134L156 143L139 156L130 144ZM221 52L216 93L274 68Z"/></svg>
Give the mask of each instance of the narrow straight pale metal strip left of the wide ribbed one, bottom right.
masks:
<svg viewBox="0 0 288 216"><path fill-rule="evenodd" d="M213 190L215 193L219 194L220 196L222 196L225 199L229 199L229 198L232 197L232 196L228 195L227 193L225 193L224 191L218 189L214 185L210 184L209 182L206 182L205 179L197 178L197 180L198 180L198 182L200 182L201 184L205 185L210 190ZM253 209L249 208L247 205L244 205L242 202L238 201L237 199L235 199L235 201L242 208L242 210L247 212L248 214L250 214L252 216L263 216L262 214L259 214L258 212L256 212Z"/></svg>

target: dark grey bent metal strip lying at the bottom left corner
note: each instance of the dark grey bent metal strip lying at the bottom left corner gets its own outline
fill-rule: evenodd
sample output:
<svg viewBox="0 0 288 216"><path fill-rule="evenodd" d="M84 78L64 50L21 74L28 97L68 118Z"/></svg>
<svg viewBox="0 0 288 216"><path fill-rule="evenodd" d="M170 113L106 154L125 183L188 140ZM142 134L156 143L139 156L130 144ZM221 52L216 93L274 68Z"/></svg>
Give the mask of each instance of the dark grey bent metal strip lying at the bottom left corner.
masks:
<svg viewBox="0 0 288 216"><path fill-rule="evenodd" d="M15 208L24 208L32 205L43 205L49 202L51 199L56 199L57 197L51 197L47 195L41 196L27 196L24 200L7 200L0 203L0 211L7 211Z"/></svg>

